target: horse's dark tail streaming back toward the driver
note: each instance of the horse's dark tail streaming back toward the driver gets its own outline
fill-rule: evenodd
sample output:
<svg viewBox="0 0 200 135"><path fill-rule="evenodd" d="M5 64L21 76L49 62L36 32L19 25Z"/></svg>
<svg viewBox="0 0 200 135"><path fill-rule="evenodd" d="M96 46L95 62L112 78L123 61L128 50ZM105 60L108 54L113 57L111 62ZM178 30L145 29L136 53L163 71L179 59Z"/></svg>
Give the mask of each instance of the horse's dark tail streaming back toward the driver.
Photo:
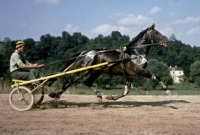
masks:
<svg viewBox="0 0 200 135"><path fill-rule="evenodd" d="M66 72L70 67L72 67L75 64L75 62L79 58L83 57L86 52L88 52L88 50L85 50L85 51L82 51L80 53L73 55L73 57L67 62L67 64L62 69L62 72Z"/></svg>

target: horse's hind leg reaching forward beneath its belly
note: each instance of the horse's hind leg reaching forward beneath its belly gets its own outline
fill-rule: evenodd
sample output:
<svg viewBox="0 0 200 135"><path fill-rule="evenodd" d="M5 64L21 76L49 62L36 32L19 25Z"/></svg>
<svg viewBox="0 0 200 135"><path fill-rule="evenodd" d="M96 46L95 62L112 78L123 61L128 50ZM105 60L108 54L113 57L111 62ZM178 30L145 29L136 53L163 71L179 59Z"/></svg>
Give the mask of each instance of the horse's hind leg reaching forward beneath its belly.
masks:
<svg viewBox="0 0 200 135"><path fill-rule="evenodd" d="M97 100L99 102L102 102L102 95L101 92L93 86L94 81L101 75L101 72L96 72L96 73L91 73L89 78L84 82L86 86L88 86L90 89L92 89L96 95L97 95Z"/></svg>

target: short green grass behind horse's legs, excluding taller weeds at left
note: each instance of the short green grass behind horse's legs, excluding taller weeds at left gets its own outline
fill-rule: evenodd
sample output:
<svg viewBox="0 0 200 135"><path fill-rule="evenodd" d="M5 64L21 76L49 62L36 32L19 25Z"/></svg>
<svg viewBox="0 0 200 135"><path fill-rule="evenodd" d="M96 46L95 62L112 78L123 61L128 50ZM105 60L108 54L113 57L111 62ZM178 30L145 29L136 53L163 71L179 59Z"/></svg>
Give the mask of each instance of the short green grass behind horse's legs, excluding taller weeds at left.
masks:
<svg viewBox="0 0 200 135"><path fill-rule="evenodd" d="M118 86L114 89L102 89L98 88L104 95L118 95L123 93L124 86ZM200 88L195 85L171 85L168 86L168 89L171 90L173 95L200 95ZM70 87L66 93L78 94L78 95L95 95L94 91L86 87L85 85L77 85ZM131 88L129 95L165 95L165 91L162 90L159 86L155 90L144 91L138 90L136 88Z"/></svg>

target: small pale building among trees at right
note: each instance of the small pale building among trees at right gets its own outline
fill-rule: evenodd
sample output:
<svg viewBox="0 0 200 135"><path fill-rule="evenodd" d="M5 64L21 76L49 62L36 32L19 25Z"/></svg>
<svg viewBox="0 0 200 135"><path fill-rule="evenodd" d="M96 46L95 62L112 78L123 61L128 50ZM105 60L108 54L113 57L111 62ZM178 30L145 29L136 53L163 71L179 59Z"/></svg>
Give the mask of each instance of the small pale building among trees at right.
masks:
<svg viewBox="0 0 200 135"><path fill-rule="evenodd" d="M174 80L174 83L181 83L181 79L183 79L183 69L181 67L169 67L170 70L170 75L172 77L172 79Z"/></svg>

